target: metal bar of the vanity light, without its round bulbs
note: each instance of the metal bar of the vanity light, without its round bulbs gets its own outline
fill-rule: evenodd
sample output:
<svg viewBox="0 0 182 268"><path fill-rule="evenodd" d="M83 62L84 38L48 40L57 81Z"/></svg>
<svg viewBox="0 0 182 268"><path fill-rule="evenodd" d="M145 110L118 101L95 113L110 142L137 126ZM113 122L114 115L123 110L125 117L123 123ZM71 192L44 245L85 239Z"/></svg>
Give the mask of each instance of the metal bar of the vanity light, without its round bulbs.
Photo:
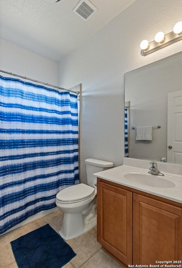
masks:
<svg viewBox="0 0 182 268"><path fill-rule="evenodd" d="M150 53L153 53L163 47L167 47L168 45L171 45L177 41L182 40L182 34L175 34L174 32L170 32L169 34L164 35L164 42L163 43L157 43L156 41L150 42L149 48L147 50L142 49L141 50L141 55L146 56Z"/></svg>

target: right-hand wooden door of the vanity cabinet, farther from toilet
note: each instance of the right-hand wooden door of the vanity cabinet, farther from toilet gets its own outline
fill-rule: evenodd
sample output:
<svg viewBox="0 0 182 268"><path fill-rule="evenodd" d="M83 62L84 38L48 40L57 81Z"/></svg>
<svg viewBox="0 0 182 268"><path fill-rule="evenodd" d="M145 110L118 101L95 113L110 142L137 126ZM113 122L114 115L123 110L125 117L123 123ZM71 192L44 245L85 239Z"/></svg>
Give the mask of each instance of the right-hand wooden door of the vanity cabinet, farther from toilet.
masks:
<svg viewBox="0 0 182 268"><path fill-rule="evenodd" d="M133 264L181 260L182 209L133 193Z"/></svg>

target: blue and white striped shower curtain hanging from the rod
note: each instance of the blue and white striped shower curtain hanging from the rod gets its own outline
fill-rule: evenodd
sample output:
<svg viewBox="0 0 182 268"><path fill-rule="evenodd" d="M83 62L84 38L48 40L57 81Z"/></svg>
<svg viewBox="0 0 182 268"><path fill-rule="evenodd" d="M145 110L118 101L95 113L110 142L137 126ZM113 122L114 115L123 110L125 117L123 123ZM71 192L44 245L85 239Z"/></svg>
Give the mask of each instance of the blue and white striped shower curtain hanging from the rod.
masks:
<svg viewBox="0 0 182 268"><path fill-rule="evenodd" d="M0 234L77 183L77 95L0 76Z"/></svg>

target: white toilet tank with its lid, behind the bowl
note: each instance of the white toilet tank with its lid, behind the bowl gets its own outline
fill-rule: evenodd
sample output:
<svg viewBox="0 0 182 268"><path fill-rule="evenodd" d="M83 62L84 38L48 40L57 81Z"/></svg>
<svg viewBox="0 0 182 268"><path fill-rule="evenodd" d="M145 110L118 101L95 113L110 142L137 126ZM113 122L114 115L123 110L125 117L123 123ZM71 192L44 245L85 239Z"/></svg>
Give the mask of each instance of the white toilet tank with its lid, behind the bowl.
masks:
<svg viewBox="0 0 182 268"><path fill-rule="evenodd" d="M88 158L85 160L85 166L87 174L87 184L93 187L94 180L96 178L96 176L94 176L93 174L96 172L104 171L106 169L111 169L111 167L113 167L113 163Z"/></svg>

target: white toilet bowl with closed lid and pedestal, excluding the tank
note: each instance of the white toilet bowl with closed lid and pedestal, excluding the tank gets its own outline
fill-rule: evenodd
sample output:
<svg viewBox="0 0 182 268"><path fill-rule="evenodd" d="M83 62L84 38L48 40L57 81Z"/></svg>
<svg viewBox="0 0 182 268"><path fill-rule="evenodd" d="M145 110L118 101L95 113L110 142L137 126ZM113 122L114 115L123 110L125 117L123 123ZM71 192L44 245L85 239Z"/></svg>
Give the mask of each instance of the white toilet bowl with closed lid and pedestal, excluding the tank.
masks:
<svg viewBox="0 0 182 268"><path fill-rule="evenodd" d="M73 198L69 198L70 193L74 193ZM57 194L56 205L64 212L59 231L64 240L76 238L97 225L96 194L96 189L83 183L65 188Z"/></svg>

